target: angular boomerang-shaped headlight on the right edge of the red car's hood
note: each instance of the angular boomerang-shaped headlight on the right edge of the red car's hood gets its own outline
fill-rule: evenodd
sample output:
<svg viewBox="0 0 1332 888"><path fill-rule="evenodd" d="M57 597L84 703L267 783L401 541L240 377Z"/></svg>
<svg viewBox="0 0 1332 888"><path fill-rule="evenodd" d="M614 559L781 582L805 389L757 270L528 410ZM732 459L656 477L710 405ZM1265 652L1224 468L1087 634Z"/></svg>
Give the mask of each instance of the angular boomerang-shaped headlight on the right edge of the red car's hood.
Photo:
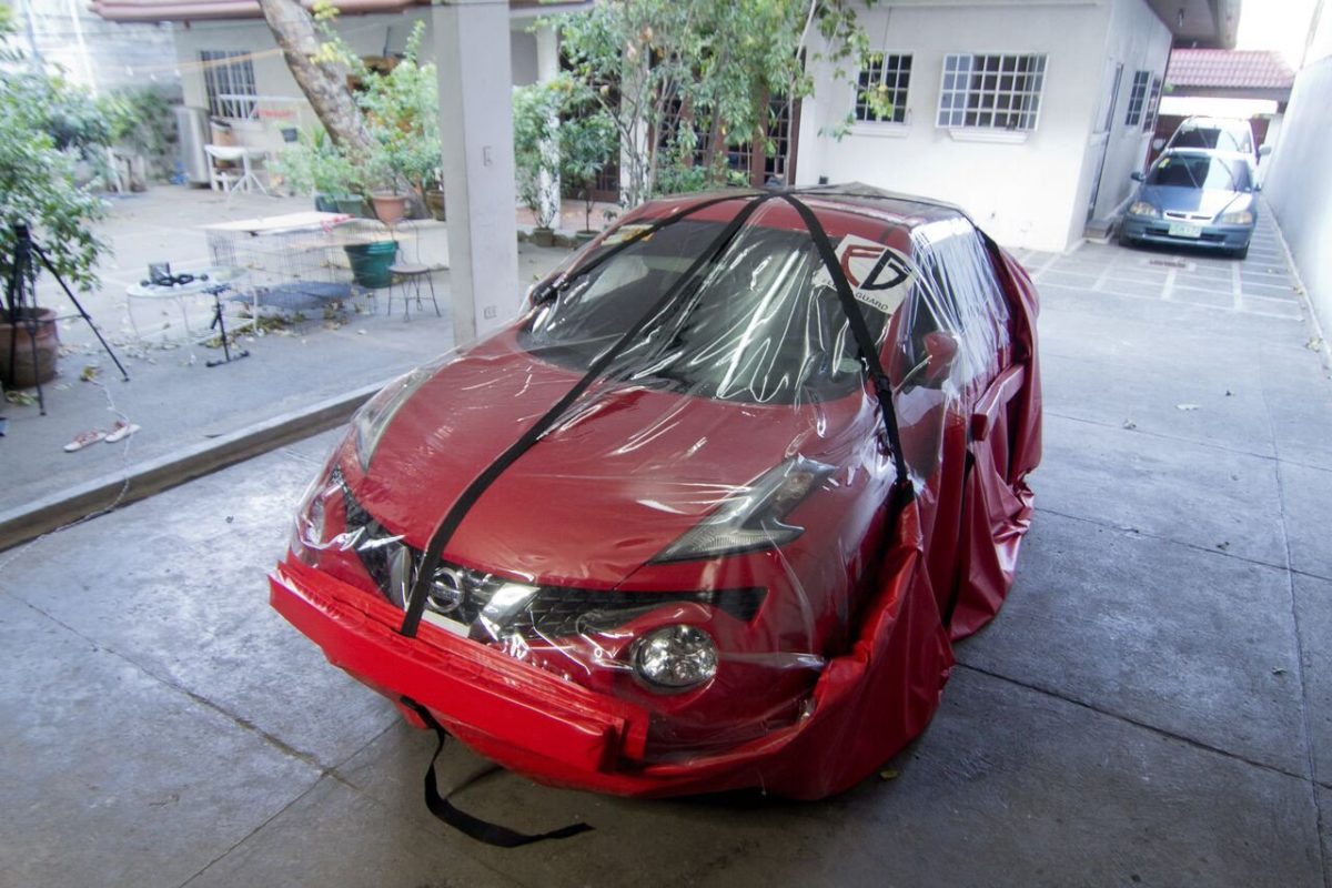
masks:
<svg viewBox="0 0 1332 888"><path fill-rule="evenodd" d="M654 563L714 558L785 546L805 533L782 519L835 471L822 462L793 457L727 499L709 518L667 546Z"/></svg>

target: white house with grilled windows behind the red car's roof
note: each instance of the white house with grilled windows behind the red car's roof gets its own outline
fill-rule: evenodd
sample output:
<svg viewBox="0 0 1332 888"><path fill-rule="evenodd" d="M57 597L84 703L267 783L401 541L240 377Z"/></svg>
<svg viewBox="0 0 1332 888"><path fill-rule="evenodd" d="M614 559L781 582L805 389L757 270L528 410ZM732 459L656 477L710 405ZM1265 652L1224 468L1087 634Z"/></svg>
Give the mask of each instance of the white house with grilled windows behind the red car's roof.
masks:
<svg viewBox="0 0 1332 888"><path fill-rule="evenodd" d="M1063 250L1130 194L1173 43L1231 47L1239 0L886 0L860 11L882 61L876 120L814 69L794 181L859 180L960 205L996 240ZM840 140L827 134L851 113Z"/></svg>

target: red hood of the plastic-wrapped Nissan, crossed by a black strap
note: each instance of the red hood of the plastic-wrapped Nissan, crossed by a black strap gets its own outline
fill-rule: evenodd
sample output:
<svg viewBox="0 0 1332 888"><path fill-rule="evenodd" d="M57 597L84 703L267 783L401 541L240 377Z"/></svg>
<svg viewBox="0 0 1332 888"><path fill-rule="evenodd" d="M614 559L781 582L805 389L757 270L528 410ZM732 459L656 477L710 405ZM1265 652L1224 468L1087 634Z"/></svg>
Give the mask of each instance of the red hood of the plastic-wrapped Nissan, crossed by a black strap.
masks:
<svg viewBox="0 0 1332 888"><path fill-rule="evenodd" d="M578 381L501 334L398 409L353 495L424 549L462 491ZM611 587L787 457L848 446L863 397L751 405L651 385L594 386L468 513L446 560ZM842 429L842 441L830 430ZM840 445L840 446L839 446Z"/></svg>

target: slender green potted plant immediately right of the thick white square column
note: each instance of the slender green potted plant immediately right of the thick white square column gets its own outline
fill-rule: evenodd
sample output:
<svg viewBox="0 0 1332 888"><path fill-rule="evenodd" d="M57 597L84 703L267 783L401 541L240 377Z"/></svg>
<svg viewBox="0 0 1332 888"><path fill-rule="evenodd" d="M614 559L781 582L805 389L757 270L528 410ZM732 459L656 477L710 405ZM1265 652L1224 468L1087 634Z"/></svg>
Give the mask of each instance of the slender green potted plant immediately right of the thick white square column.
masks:
<svg viewBox="0 0 1332 888"><path fill-rule="evenodd" d="M550 224L559 210L559 89L558 81L514 87L513 160L518 200L531 210L531 242L553 246Z"/></svg>

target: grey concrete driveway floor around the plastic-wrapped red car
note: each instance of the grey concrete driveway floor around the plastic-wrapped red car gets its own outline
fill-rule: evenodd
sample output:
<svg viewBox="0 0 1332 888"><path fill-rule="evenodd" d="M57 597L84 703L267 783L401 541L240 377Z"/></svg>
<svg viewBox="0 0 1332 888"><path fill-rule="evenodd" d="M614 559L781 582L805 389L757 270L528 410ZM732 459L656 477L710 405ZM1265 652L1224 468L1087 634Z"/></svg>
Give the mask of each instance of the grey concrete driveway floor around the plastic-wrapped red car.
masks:
<svg viewBox="0 0 1332 888"><path fill-rule="evenodd" d="M432 738L266 606L329 433L0 554L0 881L1328 888L1332 382L1275 234L1023 258L1038 514L894 779L793 804L500 774L458 803L595 831L442 828ZM454 746L442 780L478 766Z"/></svg>

